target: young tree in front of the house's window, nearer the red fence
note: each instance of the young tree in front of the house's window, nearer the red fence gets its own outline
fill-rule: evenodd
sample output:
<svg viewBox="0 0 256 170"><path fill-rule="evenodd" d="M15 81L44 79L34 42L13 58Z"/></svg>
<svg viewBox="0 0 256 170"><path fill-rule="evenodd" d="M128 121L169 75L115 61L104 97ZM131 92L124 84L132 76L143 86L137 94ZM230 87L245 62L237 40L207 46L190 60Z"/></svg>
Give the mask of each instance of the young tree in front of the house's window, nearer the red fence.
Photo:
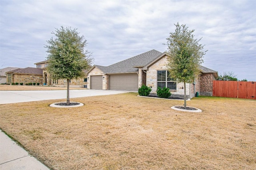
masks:
<svg viewBox="0 0 256 170"><path fill-rule="evenodd" d="M170 77L176 82L184 82L184 107L186 107L186 83L192 83L200 74L200 64L205 55L204 45L199 44L200 38L195 39L193 30L186 25L174 24L175 32L170 33L167 39L168 45L168 68Z"/></svg>

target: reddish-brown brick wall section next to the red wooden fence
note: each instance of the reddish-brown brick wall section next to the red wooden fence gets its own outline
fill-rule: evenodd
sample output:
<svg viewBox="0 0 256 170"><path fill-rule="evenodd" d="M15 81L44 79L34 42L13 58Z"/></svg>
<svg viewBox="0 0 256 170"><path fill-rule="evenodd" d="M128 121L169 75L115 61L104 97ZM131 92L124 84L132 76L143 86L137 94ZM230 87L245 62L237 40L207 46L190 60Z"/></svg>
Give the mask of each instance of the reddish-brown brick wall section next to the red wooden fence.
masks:
<svg viewBox="0 0 256 170"><path fill-rule="evenodd" d="M212 86L215 77L212 73L202 73L200 76L200 95L212 96Z"/></svg>

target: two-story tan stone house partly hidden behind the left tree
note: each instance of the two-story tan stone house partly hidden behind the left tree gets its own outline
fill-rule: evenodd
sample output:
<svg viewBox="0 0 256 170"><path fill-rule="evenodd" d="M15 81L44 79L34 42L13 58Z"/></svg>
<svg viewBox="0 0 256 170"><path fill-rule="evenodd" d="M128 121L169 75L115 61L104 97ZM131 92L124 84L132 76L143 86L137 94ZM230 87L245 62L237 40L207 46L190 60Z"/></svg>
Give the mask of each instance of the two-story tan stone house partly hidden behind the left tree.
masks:
<svg viewBox="0 0 256 170"><path fill-rule="evenodd" d="M38 62L35 64L36 64L36 68L42 69L42 72L43 72L42 84L43 85L52 85L52 86L66 86L67 85L67 82L64 79L55 80L55 79L51 78L50 74L47 72L47 66L49 64L48 60L41 61L41 62ZM87 88L87 75L83 78L70 80L70 87Z"/></svg>

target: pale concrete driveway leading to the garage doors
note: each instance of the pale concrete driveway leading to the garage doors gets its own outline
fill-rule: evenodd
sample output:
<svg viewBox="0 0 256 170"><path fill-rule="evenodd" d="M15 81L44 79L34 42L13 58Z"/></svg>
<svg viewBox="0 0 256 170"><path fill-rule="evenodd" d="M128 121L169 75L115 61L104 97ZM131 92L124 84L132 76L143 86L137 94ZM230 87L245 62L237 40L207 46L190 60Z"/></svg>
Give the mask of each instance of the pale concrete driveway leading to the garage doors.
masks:
<svg viewBox="0 0 256 170"><path fill-rule="evenodd" d="M110 94L127 93L124 90L70 90L69 97L81 98L88 96L102 96ZM66 90L21 90L21 91L0 91L0 104L19 102L33 102L40 100L66 99Z"/></svg>

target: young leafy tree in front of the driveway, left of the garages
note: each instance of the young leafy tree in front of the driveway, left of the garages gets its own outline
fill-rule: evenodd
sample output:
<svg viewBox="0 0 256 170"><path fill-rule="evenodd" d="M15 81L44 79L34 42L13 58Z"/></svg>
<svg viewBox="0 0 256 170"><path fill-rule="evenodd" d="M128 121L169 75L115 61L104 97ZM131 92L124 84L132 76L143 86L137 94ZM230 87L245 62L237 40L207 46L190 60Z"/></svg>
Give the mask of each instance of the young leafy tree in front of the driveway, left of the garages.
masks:
<svg viewBox="0 0 256 170"><path fill-rule="evenodd" d="M56 29L52 32L55 38L47 41L48 72L54 79L67 81L67 105L69 100L69 81L84 76L84 70L92 64L91 53L85 50L86 39L80 36L77 29L70 27Z"/></svg>

